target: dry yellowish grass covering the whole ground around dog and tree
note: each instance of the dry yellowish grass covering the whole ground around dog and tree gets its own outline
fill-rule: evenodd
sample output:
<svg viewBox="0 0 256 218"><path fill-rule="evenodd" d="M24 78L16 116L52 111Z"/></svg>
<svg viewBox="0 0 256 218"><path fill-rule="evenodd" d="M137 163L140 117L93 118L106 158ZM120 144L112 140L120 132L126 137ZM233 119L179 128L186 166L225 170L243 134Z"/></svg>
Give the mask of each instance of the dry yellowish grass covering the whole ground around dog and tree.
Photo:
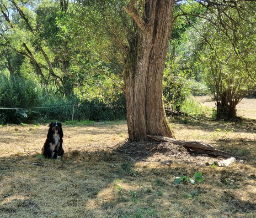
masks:
<svg viewBox="0 0 256 218"><path fill-rule="evenodd" d="M118 152L127 145L126 122L64 125L63 161L43 160L37 152L47 125L4 126L0 218L256 218L255 121L176 120L172 126L178 139L210 142L245 162L221 168L157 149L150 155ZM168 158L171 165L157 162ZM195 172L203 172L202 183L173 183L174 177Z"/></svg>

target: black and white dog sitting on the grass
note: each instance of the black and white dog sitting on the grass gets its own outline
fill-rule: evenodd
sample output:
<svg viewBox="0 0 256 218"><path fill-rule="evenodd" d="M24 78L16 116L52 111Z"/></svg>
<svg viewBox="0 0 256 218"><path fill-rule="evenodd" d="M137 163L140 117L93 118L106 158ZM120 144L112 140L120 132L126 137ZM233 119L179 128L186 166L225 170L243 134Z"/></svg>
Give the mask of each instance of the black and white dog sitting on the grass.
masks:
<svg viewBox="0 0 256 218"><path fill-rule="evenodd" d="M61 123L52 122L49 124L49 130L47 134L47 139L42 148L42 155L46 158L54 158L60 160L64 154L62 148L62 137L63 132L61 128Z"/></svg>

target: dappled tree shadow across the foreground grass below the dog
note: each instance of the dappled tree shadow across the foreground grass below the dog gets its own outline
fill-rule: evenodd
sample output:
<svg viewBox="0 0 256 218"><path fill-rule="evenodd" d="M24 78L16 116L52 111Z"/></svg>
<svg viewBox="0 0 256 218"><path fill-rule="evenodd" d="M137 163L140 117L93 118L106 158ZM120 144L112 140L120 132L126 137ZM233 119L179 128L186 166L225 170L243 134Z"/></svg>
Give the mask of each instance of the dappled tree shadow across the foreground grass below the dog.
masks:
<svg viewBox="0 0 256 218"><path fill-rule="evenodd" d="M243 190L246 183L255 184L253 174L249 180L244 176L248 169L215 169L182 162L171 166L141 163L160 150L140 153L137 162L127 161L127 154L118 150L143 151L139 143L133 145L130 150L123 143L109 151L66 152L60 162L37 155L1 157L0 218L165 218L206 217L207 214L216 218L249 218L256 215L253 190L248 189L246 193ZM144 145L144 151L148 150L147 146ZM150 146L154 148L157 144ZM162 150L166 152L165 147ZM45 165L34 166L32 162ZM203 183L172 182L176 176L192 177L199 171L203 172ZM249 201L244 194L252 199Z"/></svg>

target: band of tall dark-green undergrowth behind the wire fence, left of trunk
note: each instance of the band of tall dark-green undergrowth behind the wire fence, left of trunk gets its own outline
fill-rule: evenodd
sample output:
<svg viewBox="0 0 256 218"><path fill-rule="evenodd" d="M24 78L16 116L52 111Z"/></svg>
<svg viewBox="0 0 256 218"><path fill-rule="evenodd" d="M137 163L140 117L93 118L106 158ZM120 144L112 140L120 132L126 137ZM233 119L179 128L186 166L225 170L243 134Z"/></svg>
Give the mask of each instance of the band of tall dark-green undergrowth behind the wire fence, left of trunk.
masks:
<svg viewBox="0 0 256 218"><path fill-rule="evenodd" d="M126 118L125 98L111 103L103 99L82 100L65 97L56 90L47 90L22 76L0 74L0 108L34 107L32 109L0 109L0 124L56 120L111 121ZM37 108L41 107L41 108ZM74 108L74 110L73 110Z"/></svg>

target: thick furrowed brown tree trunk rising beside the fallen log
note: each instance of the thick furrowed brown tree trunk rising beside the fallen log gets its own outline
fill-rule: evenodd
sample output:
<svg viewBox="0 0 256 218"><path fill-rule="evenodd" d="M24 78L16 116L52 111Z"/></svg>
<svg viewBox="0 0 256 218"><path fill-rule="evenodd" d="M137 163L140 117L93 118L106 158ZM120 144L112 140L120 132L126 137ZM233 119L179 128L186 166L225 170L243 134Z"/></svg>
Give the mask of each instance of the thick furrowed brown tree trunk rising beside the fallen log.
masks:
<svg viewBox="0 0 256 218"><path fill-rule="evenodd" d="M174 137L162 98L174 1L147 1L143 17L138 15L135 3L131 0L125 8L139 27L136 49L124 70L129 140L149 141L148 135Z"/></svg>

